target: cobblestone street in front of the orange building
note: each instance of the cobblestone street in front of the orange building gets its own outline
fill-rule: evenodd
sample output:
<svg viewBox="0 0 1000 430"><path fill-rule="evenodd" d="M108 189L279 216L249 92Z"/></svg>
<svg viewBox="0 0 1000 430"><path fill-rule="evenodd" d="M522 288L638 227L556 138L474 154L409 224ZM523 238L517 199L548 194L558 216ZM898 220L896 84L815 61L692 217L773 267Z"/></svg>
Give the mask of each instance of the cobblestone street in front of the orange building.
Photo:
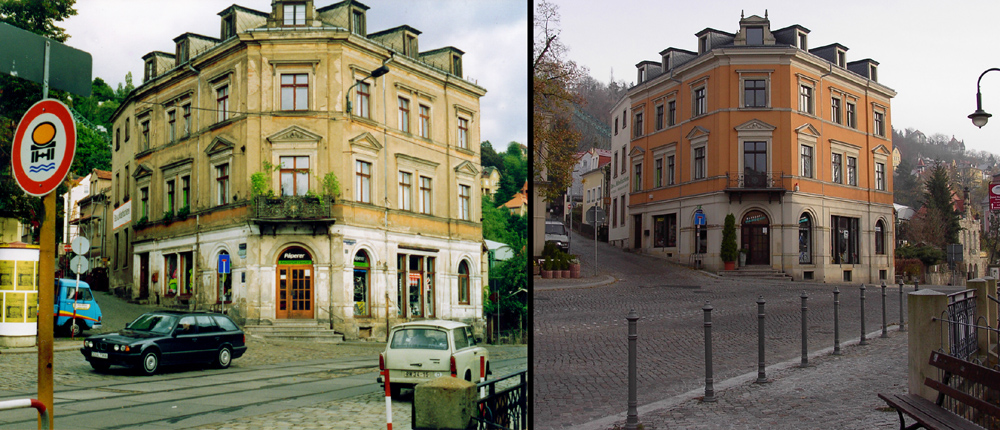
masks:
<svg viewBox="0 0 1000 430"><path fill-rule="evenodd" d="M584 274L592 273L593 242L576 236L572 244L573 252L584 264ZM808 295L810 351L833 346L834 288L841 292L841 341L861 334L860 284L725 279L646 255L626 253L607 244L599 244L598 251L598 278L607 275L616 282L606 285L598 282L597 286L582 289L557 289L566 286L567 280L534 280L535 428L573 428L626 410L625 316L630 309L635 309L641 318L639 405L703 389L702 306L706 301L714 307L716 381L756 372L759 296L766 300L768 364L801 354L803 291ZM898 291L895 286L888 289L890 324L899 321ZM866 330L874 332L882 323L881 289L868 285L866 299ZM868 373L864 370L864 374Z"/></svg>

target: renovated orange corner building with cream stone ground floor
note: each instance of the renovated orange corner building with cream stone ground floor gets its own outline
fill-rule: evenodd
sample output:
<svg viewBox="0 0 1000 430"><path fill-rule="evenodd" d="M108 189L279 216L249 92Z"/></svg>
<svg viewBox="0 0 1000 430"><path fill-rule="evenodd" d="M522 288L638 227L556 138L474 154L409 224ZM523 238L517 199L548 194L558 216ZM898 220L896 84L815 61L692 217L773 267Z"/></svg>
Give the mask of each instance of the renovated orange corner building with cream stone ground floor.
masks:
<svg viewBox="0 0 1000 430"><path fill-rule="evenodd" d="M637 64L628 148L633 249L708 269L727 214L746 264L795 279L892 279L890 99L878 63L809 30L711 28ZM624 158L624 154L623 154Z"/></svg>

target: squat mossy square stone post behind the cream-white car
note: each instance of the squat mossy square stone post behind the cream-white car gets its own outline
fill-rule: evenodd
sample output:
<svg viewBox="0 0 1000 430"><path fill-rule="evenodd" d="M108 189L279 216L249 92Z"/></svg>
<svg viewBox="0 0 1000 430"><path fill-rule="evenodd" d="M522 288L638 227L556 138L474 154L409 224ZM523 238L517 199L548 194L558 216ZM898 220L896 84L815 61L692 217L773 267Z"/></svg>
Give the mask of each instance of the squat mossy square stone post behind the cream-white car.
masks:
<svg viewBox="0 0 1000 430"><path fill-rule="evenodd" d="M476 413L476 384L442 376L413 388L413 426L464 429Z"/></svg>

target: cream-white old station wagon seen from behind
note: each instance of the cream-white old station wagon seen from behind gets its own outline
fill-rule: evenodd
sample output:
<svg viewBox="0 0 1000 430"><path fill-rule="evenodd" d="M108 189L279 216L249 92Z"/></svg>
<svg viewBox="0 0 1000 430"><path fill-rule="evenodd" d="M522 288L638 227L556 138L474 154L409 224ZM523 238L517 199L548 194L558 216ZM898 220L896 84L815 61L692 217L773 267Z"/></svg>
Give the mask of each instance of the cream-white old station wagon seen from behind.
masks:
<svg viewBox="0 0 1000 430"><path fill-rule="evenodd" d="M389 334L379 370L389 370L389 391L398 397L403 388L455 375L479 381L480 357L490 373L490 353L476 343L472 327L456 321L419 321L397 325ZM385 387L382 376L378 382Z"/></svg>

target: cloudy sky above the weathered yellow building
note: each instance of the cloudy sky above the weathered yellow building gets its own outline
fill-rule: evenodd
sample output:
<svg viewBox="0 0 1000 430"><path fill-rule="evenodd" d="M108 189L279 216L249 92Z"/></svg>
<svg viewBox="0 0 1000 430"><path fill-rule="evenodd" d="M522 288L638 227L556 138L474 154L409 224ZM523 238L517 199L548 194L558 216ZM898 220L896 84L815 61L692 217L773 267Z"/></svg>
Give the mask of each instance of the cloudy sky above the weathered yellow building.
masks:
<svg viewBox="0 0 1000 430"><path fill-rule="evenodd" d="M321 8L339 0L315 0ZM58 24L66 44L94 57L93 76L112 88L132 72L142 83L142 56L174 52L173 39L191 32L219 37L218 13L232 4L270 13L271 0L80 0L77 15ZM465 52L465 78L486 88L480 100L481 138L502 151L527 144L528 3L524 0L363 0L368 32L399 25L420 30L420 50L454 46Z"/></svg>

